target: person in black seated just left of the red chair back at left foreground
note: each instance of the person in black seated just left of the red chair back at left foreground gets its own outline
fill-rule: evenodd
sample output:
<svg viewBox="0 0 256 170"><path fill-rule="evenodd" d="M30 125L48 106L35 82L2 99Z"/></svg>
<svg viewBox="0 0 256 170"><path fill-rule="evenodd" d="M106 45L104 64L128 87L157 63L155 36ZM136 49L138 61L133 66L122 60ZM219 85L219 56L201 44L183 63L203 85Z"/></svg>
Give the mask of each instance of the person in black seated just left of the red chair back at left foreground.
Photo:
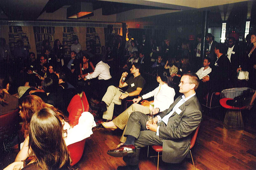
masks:
<svg viewBox="0 0 256 170"><path fill-rule="evenodd" d="M60 109L61 112L68 116L66 110L67 107L65 105L65 101L63 100L65 92L63 88L59 86L58 79L45 78L42 83L42 87L47 95L45 103Z"/></svg>

